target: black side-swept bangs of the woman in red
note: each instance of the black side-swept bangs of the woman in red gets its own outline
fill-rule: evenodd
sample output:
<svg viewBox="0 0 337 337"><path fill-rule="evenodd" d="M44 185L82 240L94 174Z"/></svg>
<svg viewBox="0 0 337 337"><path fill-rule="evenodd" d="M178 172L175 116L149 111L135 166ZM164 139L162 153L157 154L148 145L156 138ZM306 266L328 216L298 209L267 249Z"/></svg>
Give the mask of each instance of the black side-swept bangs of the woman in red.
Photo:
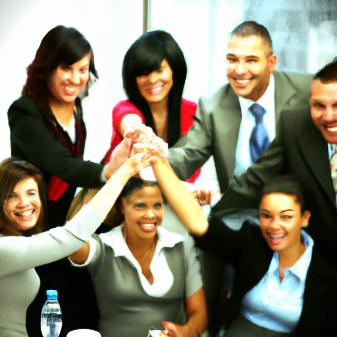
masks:
<svg viewBox="0 0 337 337"><path fill-rule="evenodd" d="M133 60L130 75L135 78L147 75L160 68L161 62L166 57L165 47L153 39L141 39L134 44Z"/></svg>

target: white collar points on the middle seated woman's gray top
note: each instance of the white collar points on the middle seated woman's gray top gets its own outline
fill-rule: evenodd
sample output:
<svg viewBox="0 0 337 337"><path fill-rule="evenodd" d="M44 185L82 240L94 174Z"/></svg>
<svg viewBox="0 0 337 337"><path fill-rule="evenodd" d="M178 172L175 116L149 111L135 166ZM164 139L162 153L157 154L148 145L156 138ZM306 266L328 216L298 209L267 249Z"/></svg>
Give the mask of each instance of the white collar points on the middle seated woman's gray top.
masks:
<svg viewBox="0 0 337 337"><path fill-rule="evenodd" d="M156 246L156 251L159 253L164 247L172 248L177 243L184 241L184 237L177 233L172 233L167 231L167 229L158 226L157 227L158 242ZM122 233L122 225L119 225L107 233L99 235L102 242L114 250L115 257L125 256L130 258L132 255L129 247L127 246L124 236ZM133 257L133 255L132 255Z"/></svg>

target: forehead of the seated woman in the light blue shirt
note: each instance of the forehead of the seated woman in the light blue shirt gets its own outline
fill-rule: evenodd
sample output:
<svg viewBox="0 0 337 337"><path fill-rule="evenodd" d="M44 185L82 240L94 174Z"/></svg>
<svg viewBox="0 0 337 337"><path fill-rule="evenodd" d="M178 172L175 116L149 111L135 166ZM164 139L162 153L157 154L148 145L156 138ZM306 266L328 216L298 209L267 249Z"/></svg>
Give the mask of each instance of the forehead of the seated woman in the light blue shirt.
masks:
<svg viewBox="0 0 337 337"><path fill-rule="evenodd" d="M260 203L260 209L263 208L269 211L296 210L297 207L300 207L300 204L297 202L296 195L283 193L265 194Z"/></svg>

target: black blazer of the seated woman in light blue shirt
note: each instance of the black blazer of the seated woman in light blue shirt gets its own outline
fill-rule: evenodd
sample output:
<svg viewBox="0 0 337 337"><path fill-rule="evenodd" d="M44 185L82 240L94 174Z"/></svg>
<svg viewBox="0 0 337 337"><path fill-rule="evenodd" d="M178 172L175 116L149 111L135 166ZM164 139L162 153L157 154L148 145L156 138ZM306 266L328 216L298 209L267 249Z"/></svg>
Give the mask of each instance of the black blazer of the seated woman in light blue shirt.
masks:
<svg viewBox="0 0 337 337"><path fill-rule="evenodd" d="M244 295L269 269L273 251L260 228L245 222L240 231L228 228L212 215L209 229L202 237L194 237L195 245L233 264L235 279L232 296L225 302L218 326L229 327L239 313ZM337 332L337 270L319 253L315 244L305 283L303 310L295 336L335 336Z"/></svg>

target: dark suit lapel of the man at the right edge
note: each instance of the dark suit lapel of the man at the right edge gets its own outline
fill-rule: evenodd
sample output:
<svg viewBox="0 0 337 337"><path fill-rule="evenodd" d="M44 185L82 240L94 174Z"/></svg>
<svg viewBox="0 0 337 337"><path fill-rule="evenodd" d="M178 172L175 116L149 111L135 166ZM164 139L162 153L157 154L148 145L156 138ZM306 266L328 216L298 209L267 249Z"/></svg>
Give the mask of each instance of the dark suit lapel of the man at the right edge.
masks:
<svg viewBox="0 0 337 337"><path fill-rule="evenodd" d="M309 170L318 179L321 186L329 196L329 199L336 207L336 193L333 187L328 144L319 130L314 126L311 116L308 116L303 123L303 135L300 138L300 146ZM310 119L310 120L309 120Z"/></svg>

